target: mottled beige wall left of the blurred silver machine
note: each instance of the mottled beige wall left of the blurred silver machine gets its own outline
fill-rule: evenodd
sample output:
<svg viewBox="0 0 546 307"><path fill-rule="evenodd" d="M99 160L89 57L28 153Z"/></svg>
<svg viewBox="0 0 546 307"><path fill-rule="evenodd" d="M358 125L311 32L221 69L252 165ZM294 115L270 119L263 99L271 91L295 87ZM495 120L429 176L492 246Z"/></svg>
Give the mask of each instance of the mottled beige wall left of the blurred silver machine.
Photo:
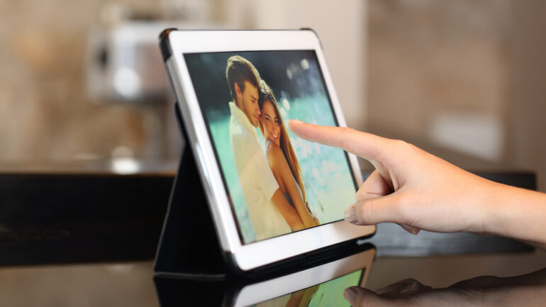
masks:
<svg viewBox="0 0 546 307"><path fill-rule="evenodd" d="M110 1L0 4L0 164L110 157L124 145L146 147L155 108L96 104L87 97L87 33ZM120 4L152 11L157 4Z"/></svg>

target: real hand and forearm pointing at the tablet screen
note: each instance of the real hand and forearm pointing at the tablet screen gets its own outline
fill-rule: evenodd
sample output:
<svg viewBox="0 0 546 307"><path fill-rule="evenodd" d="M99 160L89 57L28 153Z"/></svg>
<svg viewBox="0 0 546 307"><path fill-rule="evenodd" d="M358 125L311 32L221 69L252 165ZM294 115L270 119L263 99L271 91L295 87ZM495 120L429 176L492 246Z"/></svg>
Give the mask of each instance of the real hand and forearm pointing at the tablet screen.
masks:
<svg viewBox="0 0 546 307"><path fill-rule="evenodd" d="M491 233L546 243L546 196L490 182L401 140L289 122L301 138L340 147L376 170L345 211L358 225L393 222L410 233Z"/></svg>

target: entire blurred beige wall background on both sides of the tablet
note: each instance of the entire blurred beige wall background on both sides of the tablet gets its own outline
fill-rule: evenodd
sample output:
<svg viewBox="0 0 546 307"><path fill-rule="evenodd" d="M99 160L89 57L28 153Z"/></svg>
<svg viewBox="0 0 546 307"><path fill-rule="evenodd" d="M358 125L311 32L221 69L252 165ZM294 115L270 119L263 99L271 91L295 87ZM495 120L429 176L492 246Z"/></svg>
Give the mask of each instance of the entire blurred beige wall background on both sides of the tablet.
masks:
<svg viewBox="0 0 546 307"><path fill-rule="evenodd" d="M0 162L108 158L120 145L165 158L150 131L169 111L87 98L87 32L107 3L1 3ZM314 28L350 126L537 169L545 190L543 1L210 4L226 28Z"/></svg>

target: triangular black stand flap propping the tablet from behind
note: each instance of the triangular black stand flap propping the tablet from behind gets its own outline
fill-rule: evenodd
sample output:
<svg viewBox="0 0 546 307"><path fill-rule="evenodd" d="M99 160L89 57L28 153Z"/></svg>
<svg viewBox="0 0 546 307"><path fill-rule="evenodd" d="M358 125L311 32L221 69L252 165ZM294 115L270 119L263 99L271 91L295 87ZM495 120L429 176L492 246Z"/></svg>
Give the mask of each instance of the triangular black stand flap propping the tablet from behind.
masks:
<svg viewBox="0 0 546 307"><path fill-rule="evenodd" d="M177 104L179 128L188 140ZM174 179L155 257L154 272L172 277L218 279L226 267L194 153L186 144Z"/></svg>

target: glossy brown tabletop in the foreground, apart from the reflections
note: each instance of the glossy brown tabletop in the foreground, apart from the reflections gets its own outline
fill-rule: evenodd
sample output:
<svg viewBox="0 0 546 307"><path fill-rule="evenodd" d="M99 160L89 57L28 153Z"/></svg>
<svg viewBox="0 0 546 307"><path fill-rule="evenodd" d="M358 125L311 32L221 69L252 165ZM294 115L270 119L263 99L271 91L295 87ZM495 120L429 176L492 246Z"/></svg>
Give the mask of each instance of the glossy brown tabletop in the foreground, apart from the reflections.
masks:
<svg viewBox="0 0 546 307"><path fill-rule="evenodd" d="M546 267L546 253L538 251L450 257L377 257L369 268L367 287L375 290L413 278L423 284L442 288L473 277L511 277L543 267ZM544 276L543 281L546 281ZM525 282L518 281L518 284L521 283ZM503 285L503 289L516 289L516 286L516 280L513 280ZM211 287L210 295L214 295L216 290ZM546 302L545 286L531 287L525 291L544 297ZM189 297L187 305L183 306L194 306L198 302L199 298ZM448 305L450 302L445 301L445 306L459 306ZM1 306L40 307L159 306L152 262L149 261L0 268L0 303Z"/></svg>

